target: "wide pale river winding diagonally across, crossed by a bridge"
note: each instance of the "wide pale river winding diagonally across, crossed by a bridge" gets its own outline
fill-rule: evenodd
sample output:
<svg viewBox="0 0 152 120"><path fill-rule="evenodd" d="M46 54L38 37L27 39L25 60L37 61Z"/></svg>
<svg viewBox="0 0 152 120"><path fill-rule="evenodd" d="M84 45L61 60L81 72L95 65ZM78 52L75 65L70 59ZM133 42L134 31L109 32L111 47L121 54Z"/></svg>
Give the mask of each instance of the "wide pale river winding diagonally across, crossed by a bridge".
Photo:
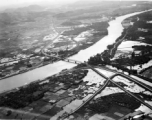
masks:
<svg viewBox="0 0 152 120"><path fill-rule="evenodd" d="M140 14L142 12L127 14L110 21L107 36L103 37L91 47L85 50L81 50L78 54L70 57L70 59L75 59L78 61L87 61L88 58L90 58L91 56L103 52L108 45L114 43L115 40L122 34L124 28L122 27L121 22L128 17ZM60 72L63 69L72 68L74 66L75 64L59 61L23 74L0 80L0 92L11 90L13 88L23 86L26 83L46 78L48 76Z"/></svg>

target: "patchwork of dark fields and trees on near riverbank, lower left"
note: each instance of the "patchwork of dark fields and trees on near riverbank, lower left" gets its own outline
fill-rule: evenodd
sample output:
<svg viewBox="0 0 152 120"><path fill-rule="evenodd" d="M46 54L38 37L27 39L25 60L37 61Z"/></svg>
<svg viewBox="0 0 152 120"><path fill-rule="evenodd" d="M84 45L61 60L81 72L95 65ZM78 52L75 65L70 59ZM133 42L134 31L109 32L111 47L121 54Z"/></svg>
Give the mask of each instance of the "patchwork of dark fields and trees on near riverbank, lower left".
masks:
<svg viewBox="0 0 152 120"><path fill-rule="evenodd" d="M71 91L86 74L87 70L61 72L0 95L0 118L49 120L76 99L78 93L73 95Z"/></svg>

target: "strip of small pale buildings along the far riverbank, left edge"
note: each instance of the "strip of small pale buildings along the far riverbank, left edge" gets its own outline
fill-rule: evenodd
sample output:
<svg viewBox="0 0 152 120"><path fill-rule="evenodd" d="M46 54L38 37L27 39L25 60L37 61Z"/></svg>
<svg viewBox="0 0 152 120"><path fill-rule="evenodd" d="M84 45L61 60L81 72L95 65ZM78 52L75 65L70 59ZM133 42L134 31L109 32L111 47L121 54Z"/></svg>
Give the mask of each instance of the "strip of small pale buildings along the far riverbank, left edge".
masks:
<svg viewBox="0 0 152 120"><path fill-rule="evenodd" d="M41 62L45 59L45 57L42 56L24 56L24 58L17 57L17 59L14 59L12 62L5 62L0 64L0 77L7 77L14 74L18 74L21 72L25 72L32 67L36 67L37 65L40 65Z"/></svg>

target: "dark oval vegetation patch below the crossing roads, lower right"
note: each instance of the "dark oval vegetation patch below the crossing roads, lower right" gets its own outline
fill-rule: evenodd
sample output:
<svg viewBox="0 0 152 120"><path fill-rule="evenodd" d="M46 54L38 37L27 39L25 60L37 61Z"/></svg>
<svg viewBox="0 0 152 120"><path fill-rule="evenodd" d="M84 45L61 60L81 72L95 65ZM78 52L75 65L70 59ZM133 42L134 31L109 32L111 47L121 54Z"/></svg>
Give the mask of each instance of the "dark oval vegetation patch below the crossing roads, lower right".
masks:
<svg viewBox="0 0 152 120"><path fill-rule="evenodd" d="M116 93L97 98L96 100L91 101L90 104L86 105L85 108L97 113L105 113L108 112L110 107L114 104L129 108L131 110L135 110L141 105L141 103L135 98L130 97L125 93Z"/></svg>

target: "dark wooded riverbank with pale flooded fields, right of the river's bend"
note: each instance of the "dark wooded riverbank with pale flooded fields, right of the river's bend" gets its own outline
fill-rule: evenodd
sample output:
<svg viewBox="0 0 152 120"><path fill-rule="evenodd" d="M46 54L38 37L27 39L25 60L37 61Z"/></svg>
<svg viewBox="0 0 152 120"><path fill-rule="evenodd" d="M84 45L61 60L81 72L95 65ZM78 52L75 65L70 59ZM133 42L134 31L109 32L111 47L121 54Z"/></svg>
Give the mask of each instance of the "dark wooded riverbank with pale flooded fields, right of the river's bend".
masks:
<svg viewBox="0 0 152 120"><path fill-rule="evenodd" d="M125 27L124 32L122 32L122 38L118 38L114 44L107 46L107 49L101 55L98 54L94 57L91 57L89 59L89 63L92 65L111 65L117 69L121 69L133 74L137 74L139 70L142 70L142 67L144 69L144 64L151 60L151 42L149 40L149 37L147 38L147 35L150 36L150 32L148 31L151 31L151 29L146 29L149 28L149 25L151 24L146 23L147 21L144 17L142 18L142 16L144 16L144 14L150 14L150 12L151 9L141 12L141 14L137 14L136 17L125 19L124 21L129 21L129 25L127 24L127 28ZM139 21L136 20L137 17L141 17ZM134 23L132 23L132 21L134 21ZM141 37L145 38L140 39ZM128 48L125 47L124 49L118 50L119 46L121 46L121 44L125 43L126 41L130 41L131 43L133 41L139 41L139 45L129 44L130 48L132 48L130 52L126 52ZM115 52L117 53L115 54Z"/></svg>

